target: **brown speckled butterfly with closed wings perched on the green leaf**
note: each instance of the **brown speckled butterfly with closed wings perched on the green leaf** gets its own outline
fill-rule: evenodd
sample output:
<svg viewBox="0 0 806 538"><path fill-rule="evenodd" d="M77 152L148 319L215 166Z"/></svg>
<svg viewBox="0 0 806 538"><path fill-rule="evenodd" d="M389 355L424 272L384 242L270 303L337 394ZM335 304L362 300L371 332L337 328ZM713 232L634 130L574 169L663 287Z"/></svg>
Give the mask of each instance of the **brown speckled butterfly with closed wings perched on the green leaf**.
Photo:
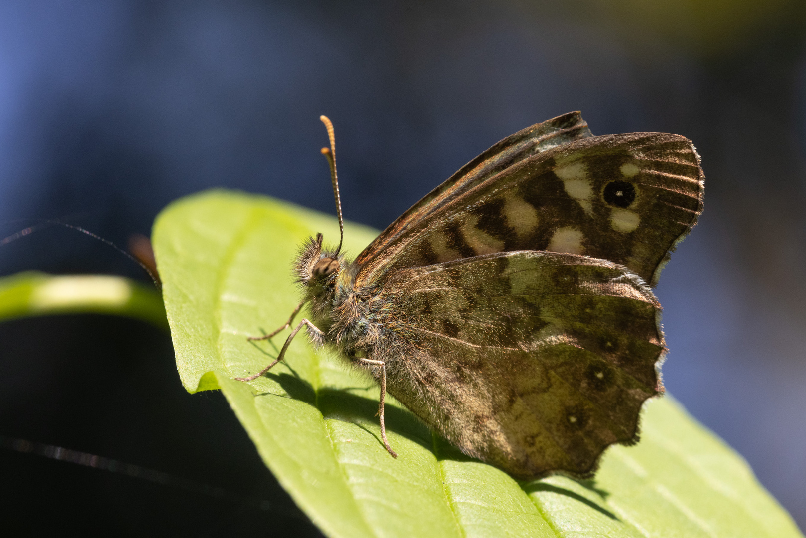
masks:
<svg viewBox="0 0 806 538"><path fill-rule="evenodd" d="M682 136L593 136L580 112L501 140L414 204L353 261L332 123L322 116L339 229L295 264L309 315L293 328L338 351L469 456L515 478L590 477L638 440L663 393L650 286L703 210L700 156Z"/></svg>

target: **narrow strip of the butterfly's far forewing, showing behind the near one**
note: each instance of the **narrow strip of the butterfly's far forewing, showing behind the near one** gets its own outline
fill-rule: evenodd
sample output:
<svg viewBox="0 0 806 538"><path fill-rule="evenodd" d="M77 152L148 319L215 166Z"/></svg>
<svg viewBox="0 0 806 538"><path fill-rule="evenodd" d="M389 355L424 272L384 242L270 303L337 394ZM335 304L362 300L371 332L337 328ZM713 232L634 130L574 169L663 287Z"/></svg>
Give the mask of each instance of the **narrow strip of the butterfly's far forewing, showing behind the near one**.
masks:
<svg viewBox="0 0 806 538"><path fill-rule="evenodd" d="M593 136L588 123L582 119L580 111L568 112L547 119L542 123L535 123L526 129L507 136L498 144L464 165L455 174L443 181L419 202L415 203L395 222L390 224L381 234L372 241L364 252L361 252L356 263L358 265L372 264L373 258L388 246L397 241L409 231L409 228L426 219L439 207L460 194L467 192L482 181L496 176L503 170L517 164L524 159L537 155L550 148L567 144L574 140L581 140Z"/></svg>

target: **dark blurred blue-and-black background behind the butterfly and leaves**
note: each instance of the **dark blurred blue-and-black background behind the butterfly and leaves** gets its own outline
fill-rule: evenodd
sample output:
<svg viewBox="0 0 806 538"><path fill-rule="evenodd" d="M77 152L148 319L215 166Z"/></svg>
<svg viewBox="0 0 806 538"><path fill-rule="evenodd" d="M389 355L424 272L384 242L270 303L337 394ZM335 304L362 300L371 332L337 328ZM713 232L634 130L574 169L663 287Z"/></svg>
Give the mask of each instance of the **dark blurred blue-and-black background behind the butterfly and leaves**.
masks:
<svg viewBox="0 0 806 538"><path fill-rule="evenodd" d="M657 290L667 389L806 528L804 30L800 0L4 0L0 235L64 219L125 245L213 186L333 213L322 113L345 217L378 228L563 112L583 111L597 135L687 136L708 188ZM24 269L143 277L60 227L0 247L0 274ZM220 395L184 394L156 329L88 315L5 323L0 339L0 435L276 507L6 450L0 501L16 522L315 536Z"/></svg>

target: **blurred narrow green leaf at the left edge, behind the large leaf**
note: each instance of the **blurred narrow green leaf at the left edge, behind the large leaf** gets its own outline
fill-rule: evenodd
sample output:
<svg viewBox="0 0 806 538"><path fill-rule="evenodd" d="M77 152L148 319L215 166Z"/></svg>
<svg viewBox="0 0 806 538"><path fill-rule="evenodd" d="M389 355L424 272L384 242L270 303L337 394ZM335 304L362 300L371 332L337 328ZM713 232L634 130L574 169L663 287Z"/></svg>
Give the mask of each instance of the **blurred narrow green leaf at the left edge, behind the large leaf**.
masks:
<svg viewBox="0 0 806 538"><path fill-rule="evenodd" d="M111 314L167 329L160 294L123 277L54 277L28 271L0 278L0 320L54 314Z"/></svg>

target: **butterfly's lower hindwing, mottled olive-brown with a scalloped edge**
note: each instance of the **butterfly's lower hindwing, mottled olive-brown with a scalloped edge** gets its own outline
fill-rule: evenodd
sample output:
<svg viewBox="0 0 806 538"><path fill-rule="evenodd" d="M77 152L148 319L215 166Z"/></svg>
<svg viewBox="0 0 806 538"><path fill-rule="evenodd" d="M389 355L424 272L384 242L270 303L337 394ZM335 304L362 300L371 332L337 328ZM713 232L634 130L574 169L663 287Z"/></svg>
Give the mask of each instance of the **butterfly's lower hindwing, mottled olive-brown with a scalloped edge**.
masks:
<svg viewBox="0 0 806 538"><path fill-rule="evenodd" d="M518 478L592 473L609 444L636 440L661 390L659 304L621 265L501 252L397 271L383 294L396 338L375 356L399 357L388 391Z"/></svg>

